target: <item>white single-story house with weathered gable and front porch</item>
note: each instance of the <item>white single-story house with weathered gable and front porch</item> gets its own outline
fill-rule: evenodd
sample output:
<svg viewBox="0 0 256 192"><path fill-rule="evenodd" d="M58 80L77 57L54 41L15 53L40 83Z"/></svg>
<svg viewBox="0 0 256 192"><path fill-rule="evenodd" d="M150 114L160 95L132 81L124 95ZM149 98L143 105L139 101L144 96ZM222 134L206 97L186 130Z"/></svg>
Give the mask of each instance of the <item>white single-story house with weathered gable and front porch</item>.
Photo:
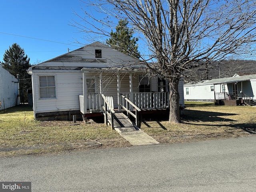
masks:
<svg viewBox="0 0 256 192"><path fill-rule="evenodd" d="M140 60L99 42L32 66L28 73L32 75L34 117L100 115L102 94L118 110L125 104L124 97L141 109L168 108L167 82L144 77L144 68ZM180 104L184 106L182 81Z"/></svg>

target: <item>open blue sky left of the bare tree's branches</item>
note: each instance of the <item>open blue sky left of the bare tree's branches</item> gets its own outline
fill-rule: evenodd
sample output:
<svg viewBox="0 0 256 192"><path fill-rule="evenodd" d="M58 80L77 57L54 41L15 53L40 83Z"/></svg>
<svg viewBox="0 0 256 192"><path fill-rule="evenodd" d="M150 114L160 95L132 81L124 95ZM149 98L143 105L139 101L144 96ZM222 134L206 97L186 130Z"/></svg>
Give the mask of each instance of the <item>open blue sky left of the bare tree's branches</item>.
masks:
<svg viewBox="0 0 256 192"><path fill-rule="evenodd" d="M82 14L81 6L80 0L1 0L0 61L14 43L24 49L31 64L65 54L68 48L80 48L82 44L74 39L88 44L81 38L83 34L70 26L72 19L78 19L73 10Z"/></svg>

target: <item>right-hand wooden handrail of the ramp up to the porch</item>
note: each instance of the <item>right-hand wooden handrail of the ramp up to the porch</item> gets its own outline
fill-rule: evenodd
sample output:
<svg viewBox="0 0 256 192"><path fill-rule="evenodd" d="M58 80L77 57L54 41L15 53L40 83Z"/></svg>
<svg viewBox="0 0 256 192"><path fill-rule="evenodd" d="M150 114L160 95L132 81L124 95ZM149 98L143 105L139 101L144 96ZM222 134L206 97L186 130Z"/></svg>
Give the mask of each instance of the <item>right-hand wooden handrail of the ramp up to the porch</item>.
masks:
<svg viewBox="0 0 256 192"><path fill-rule="evenodd" d="M123 98L122 100L122 108L126 110L127 117L130 118L129 116L133 116L135 118L135 124L138 126L139 124L139 112L141 111L140 108L138 108L135 104L132 103L126 96L120 94ZM135 109L135 114L132 112L132 110Z"/></svg>

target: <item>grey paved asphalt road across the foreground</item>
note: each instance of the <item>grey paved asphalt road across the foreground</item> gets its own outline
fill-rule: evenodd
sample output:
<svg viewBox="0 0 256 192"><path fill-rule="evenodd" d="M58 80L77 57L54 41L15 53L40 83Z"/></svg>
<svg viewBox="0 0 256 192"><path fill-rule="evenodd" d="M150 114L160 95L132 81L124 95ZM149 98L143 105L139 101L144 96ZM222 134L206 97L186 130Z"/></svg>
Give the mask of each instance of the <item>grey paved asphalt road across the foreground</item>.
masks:
<svg viewBox="0 0 256 192"><path fill-rule="evenodd" d="M0 181L32 192L256 191L256 136L0 161Z"/></svg>

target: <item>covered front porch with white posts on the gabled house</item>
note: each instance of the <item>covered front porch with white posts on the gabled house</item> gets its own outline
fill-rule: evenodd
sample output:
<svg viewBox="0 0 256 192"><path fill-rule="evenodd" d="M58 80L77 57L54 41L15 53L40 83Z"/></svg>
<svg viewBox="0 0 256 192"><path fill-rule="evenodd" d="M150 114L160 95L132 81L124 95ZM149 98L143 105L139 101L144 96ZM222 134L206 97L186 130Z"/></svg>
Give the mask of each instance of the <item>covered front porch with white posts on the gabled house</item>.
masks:
<svg viewBox="0 0 256 192"><path fill-rule="evenodd" d="M113 110L125 112L127 116L131 115L136 119L139 113L169 108L168 92L139 92L138 76L142 71L129 70L124 74L118 70L111 70L111 75L107 75L102 69L84 68L82 71L83 95L79 95L79 102L80 112L84 118L102 116L106 111ZM88 80L92 73L94 85ZM161 90L165 90L165 87Z"/></svg>

